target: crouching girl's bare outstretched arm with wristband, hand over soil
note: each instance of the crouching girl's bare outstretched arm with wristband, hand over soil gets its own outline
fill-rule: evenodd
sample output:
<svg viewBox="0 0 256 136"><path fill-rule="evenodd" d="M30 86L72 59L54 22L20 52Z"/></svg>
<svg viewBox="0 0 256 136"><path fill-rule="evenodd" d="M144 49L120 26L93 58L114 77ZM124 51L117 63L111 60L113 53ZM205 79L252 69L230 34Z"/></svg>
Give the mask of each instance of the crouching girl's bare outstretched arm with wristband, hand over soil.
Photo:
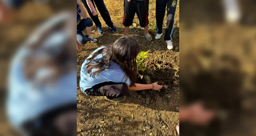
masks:
<svg viewBox="0 0 256 136"><path fill-rule="evenodd" d="M159 90L163 87L162 85L158 85L157 82L153 84L137 84L136 83L135 86L133 87L129 86L129 89L134 91L147 90L147 89Z"/></svg>

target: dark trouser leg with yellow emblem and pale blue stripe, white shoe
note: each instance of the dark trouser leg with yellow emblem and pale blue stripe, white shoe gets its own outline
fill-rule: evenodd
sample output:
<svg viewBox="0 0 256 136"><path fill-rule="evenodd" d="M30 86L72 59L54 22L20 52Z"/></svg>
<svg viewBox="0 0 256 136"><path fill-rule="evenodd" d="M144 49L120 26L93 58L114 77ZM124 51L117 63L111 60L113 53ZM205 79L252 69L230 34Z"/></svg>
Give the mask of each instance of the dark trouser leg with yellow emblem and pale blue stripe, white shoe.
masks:
<svg viewBox="0 0 256 136"><path fill-rule="evenodd" d="M167 27L165 30L165 38L167 43L167 48L172 49L172 33L174 29L174 17L175 17L175 11L176 11L176 5L177 5L177 0L168 0L167 1Z"/></svg>

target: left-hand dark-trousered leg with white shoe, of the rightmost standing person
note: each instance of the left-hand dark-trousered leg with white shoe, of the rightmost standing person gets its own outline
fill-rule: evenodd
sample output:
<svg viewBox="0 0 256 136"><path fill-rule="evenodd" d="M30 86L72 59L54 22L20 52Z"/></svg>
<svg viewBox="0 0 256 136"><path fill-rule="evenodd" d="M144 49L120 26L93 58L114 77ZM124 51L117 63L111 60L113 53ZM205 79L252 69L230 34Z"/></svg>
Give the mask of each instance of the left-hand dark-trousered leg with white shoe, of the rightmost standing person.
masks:
<svg viewBox="0 0 256 136"><path fill-rule="evenodd" d="M166 0L156 1L156 39L160 39L162 35L163 19L165 17Z"/></svg>

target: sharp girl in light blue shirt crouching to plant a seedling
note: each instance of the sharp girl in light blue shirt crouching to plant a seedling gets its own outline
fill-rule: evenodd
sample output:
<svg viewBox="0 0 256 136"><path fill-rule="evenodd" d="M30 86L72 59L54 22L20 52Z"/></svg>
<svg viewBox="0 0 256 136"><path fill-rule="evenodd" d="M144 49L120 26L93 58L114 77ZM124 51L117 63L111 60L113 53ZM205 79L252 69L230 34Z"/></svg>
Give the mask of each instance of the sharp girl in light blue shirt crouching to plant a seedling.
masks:
<svg viewBox="0 0 256 136"><path fill-rule="evenodd" d="M131 90L159 90L157 82L137 84L136 56L140 52L137 41L122 36L113 45L103 45L84 61L80 88L90 96L105 96L106 100L122 102Z"/></svg>

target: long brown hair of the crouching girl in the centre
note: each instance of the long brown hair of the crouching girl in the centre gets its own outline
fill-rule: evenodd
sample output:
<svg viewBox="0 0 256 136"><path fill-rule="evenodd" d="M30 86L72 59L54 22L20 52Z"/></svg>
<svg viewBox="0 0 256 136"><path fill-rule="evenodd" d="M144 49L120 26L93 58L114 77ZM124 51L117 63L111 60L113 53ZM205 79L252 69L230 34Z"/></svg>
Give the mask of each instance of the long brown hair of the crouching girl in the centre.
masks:
<svg viewBox="0 0 256 136"><path fill-rule="evenodd" d="M112 61L118 64L126 73L127 78L125 82L129 78L131 80L130 87L135 86L135 82L137 81L136 56L140 52L137 41L131 36L122 36L112 46L103 45L103 47L105 48L96 51L90 58L87 58L89 62L85 64L87 65L86 72L91 73L90 77L93 74L98 76L101 71L110 68ZM104 54L104 56L96 60L95 57L99 54ZM96 63L92 63L92 61ZM91 72L94 68L97 70Z"/></svg>

